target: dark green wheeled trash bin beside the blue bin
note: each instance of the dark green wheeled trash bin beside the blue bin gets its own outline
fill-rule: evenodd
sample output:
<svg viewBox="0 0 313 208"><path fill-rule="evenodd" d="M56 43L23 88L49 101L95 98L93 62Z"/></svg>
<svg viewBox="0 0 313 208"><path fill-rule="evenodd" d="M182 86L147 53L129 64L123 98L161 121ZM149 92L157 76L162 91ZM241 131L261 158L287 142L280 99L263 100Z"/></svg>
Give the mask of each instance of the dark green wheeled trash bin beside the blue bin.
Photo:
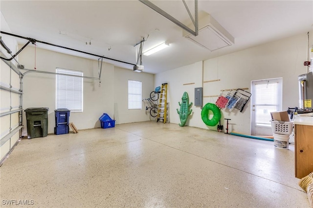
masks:
<svg viewBox="0 0 313 208"><path fill-rule="evenodd" d="M30 107L24 110L27 120L28 139L48 135L48 110L48 107Z"/></svg>

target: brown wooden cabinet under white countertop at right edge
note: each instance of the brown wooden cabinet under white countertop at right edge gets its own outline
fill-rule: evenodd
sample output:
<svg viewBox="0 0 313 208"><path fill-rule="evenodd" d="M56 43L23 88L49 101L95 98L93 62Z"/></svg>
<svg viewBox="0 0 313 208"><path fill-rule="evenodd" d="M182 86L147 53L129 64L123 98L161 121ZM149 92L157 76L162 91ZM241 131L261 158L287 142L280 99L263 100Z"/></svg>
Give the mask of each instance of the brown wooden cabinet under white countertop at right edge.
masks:
<svg viewBox="0 0 313 208"><path fill-rule="evenodd" d="M294 125L295 177L313 172L313 125Z"/></svg>

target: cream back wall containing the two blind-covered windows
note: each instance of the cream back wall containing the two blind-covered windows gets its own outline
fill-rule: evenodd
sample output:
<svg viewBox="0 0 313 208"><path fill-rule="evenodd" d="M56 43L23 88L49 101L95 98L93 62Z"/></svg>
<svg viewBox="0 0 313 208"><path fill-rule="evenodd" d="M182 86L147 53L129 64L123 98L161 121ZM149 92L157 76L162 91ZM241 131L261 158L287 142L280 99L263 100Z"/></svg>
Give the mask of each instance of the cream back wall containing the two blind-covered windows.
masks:
<svg viewBox="0 0 313 208"><path fill-rule="evenodd" d="M34 47L26 47L22 51L20 63L25 65L26 69L34 69ZM97 61L36 49L37 70L55 72L56 67L79 70L84 72L84 76L98 77ZM115 124L149 120L145 110L138 112L127 109L129 78L142 81L144 93L146 89L149 91L153 89L154 75L135 73L132 70L114 68L112 64L103 63L101 85L99 86L97 80L84 79L84 110L77 113L71 112L70 122L73 122L78 129L100 127L98 119L103 113L115 118L117 120ZM54 132L55 103L55 75L28 73L24 76L23 108L48 107L48 133ZM25 113L23 113L23 125L23 136L25 136L27 135Z"/></svg>

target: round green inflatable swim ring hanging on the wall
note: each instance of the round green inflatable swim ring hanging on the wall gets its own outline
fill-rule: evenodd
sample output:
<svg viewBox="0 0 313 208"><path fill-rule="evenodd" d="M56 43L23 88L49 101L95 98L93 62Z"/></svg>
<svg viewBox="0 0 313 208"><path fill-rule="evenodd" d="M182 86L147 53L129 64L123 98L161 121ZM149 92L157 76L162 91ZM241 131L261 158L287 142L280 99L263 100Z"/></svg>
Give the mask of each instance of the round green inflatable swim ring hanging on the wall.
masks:
<svg viewBox="0 0 313 208"><path fill-rule="evenodd" d="M213 118L209 119L209 110L213 112ZM221 110L216 104L207 103L201 110L201 118L204 124L215 126L221 120Z"/></svg>

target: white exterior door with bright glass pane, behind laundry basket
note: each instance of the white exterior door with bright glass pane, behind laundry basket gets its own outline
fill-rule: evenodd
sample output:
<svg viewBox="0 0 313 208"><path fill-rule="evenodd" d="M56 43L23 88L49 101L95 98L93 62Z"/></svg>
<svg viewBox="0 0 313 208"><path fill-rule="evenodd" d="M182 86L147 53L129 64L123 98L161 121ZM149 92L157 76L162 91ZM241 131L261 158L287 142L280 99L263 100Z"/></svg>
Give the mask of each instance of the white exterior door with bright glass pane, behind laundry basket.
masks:
<svg viewBox="0 0 313 208"><path fill-rule="evenodd" d="M282 110L283 78L251 82L251 135L271 136L270 112Z"/></svg>

